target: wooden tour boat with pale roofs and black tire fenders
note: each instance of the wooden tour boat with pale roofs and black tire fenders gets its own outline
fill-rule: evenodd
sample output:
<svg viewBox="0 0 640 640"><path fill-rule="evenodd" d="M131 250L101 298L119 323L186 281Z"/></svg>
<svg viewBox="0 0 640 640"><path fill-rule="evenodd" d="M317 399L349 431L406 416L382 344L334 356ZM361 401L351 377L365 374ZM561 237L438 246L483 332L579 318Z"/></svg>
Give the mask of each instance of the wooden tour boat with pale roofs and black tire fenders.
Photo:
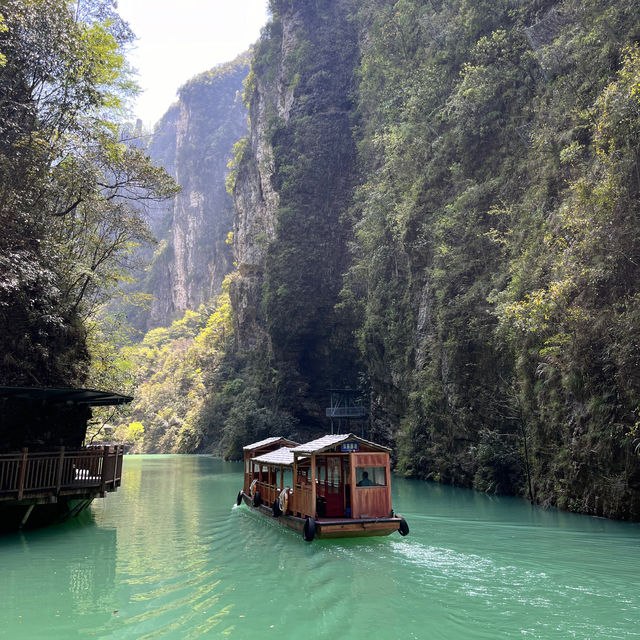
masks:
<svg viewBox="0 0 640 640"><path fill-rule="evenodd" d="M391 508L389 452L349 434L306 444L272 437L244 449L244 486L237 504L314 538L406 536Z"/></svg>

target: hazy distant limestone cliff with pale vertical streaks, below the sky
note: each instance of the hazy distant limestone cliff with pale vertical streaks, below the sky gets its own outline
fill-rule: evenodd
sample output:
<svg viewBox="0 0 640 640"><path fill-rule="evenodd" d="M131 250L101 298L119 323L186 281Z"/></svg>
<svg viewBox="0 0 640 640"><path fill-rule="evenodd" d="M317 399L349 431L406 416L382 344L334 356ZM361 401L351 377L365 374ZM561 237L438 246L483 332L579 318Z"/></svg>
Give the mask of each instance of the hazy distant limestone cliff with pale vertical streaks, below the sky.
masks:
<svg viewBox="0 0 640 640"><path fill-rule="evenodd" d="M232 268L226 239L233 203L225 179L233 145L247 132L241 97L247 60L241 57L185 84L151 139L150 156L182 191L152 212L159 244L145 286L153 300L141 328L166 325L211 299Z"/></svg>

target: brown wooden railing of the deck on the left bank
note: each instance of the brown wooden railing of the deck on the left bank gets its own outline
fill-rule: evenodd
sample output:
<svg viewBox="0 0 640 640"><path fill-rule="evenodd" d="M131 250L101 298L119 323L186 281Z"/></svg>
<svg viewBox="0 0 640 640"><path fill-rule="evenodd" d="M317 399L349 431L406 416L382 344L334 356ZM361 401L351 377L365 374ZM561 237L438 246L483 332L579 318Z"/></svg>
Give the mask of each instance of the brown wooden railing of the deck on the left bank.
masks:
<svg viewBox="0 0 640 640"><path fill-rule="evenodd" d="M0 454L0 500L115 491L122 455L120 445Z"/></svg>

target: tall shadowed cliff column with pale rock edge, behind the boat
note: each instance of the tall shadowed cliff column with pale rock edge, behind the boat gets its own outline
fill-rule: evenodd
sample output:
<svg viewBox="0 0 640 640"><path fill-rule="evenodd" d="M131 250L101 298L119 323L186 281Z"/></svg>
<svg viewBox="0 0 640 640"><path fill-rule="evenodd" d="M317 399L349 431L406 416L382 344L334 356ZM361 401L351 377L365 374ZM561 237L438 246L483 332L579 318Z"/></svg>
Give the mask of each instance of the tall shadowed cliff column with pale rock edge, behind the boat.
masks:
<svg viewBox="0 0 640 640"><path fill-rule="evenodd" d="M354 7L272 3L247 82L251 126L234 188L238 343L266 353L280 399L306 423L324 421L328 388L357 379L349 342L332 347L351 331L336 305L356 175Z"/></svg>

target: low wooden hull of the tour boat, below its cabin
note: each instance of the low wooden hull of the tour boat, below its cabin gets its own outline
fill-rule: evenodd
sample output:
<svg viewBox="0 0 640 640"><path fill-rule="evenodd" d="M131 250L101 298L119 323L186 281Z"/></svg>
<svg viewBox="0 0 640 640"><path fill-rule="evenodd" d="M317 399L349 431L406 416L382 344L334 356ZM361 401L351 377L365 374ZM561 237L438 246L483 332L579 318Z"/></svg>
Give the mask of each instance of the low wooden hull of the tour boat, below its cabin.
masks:
<svg viewBox="0 0 640 640"><path fill-rule="evenodd" d="M292 529L303 534L306 518L298 518L292 515L275 517L271 507L260 505L253 506L251 496L242 492L242 501L256 513L277 522L287 529ZM316 518L315 537L319 539L330 538L363 538L371 536L388 536L400 530L401 518Z"/></svg>

